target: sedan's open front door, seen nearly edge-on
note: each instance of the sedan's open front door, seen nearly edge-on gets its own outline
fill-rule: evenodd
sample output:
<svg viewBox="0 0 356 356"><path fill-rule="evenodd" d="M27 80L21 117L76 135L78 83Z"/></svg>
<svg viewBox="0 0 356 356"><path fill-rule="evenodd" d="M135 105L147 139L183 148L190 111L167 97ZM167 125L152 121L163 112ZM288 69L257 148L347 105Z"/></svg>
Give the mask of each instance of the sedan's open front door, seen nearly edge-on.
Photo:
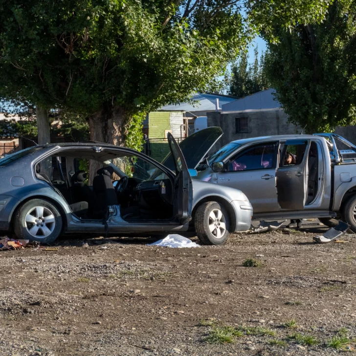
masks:
<svg viewBox="0 0 356 356"><path fill-rule="evenodd" d="M178 143L172 134L168 133L167 137L176 170L173 187L174 216L183 224L192 219L193 183Z"/></svg>

